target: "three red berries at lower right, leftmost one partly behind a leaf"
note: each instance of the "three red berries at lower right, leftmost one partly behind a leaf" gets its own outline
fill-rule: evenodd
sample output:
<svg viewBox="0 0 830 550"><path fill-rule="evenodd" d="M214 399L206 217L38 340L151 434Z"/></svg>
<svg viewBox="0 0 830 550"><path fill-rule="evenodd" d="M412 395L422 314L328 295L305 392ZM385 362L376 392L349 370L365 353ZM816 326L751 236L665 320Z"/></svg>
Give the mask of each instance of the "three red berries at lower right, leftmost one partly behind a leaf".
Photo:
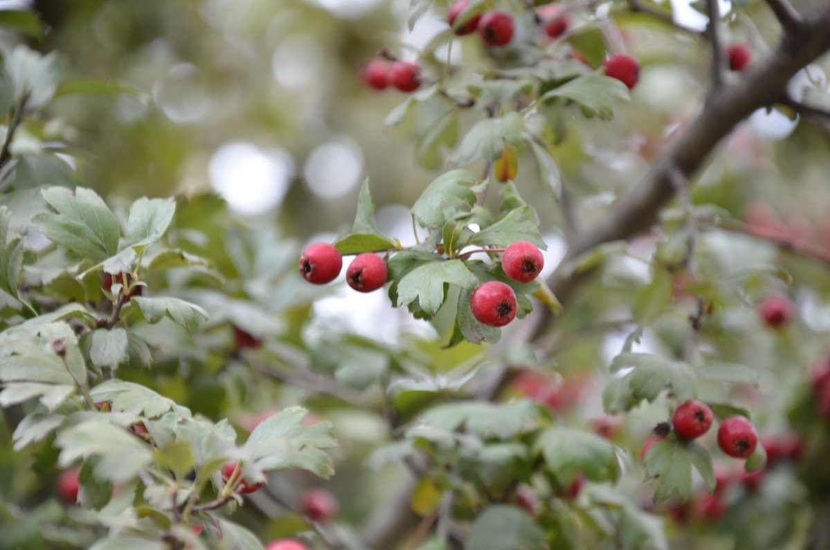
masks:
<svg viewBox="0 0 830 550"><path fill-rule="evenodd" d="M694 440L709 431L713 418L712 410L705 403L691 400L676 408L674 415L671 415L671 424L677 437L682 440ZM663 439L657 435L647 440L640 451L640 458L645 459L648 449ZM752 422L744 416L730 416L720 423L718 446L725 454L736 459L745 459L758 447L758 432Z"/></svg>

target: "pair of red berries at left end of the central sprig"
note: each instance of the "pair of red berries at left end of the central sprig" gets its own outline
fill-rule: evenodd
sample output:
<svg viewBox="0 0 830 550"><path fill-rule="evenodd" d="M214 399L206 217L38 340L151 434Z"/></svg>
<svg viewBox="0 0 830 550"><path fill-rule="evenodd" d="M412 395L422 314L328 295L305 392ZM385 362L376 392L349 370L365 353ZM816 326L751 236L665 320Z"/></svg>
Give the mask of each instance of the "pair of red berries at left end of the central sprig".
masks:
<svg viewBox="0 0 830 550"><path fill-rule="evenodd" d="M300 275L314 284L334 281L343 268L343 257L327 243L315 243L300 256ZM346 282L358 292L372 292L386 282L389 272L383 258L373 253L358 254L346 269Z"/></svg>

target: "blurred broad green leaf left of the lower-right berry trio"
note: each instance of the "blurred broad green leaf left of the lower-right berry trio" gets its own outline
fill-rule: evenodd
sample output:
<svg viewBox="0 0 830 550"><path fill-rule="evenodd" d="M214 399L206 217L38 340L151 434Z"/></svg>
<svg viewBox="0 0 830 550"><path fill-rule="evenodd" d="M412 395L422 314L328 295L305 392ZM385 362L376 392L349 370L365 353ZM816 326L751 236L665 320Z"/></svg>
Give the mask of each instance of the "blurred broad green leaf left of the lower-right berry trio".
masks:
<svg viewBox="0 0 830 550"><path fill-rule="evenodd" d="M578 474L592 481L616 481L620 465L614 445L599 435L573 428L549 428L534 443L560 484L569 485Z"/></svg>

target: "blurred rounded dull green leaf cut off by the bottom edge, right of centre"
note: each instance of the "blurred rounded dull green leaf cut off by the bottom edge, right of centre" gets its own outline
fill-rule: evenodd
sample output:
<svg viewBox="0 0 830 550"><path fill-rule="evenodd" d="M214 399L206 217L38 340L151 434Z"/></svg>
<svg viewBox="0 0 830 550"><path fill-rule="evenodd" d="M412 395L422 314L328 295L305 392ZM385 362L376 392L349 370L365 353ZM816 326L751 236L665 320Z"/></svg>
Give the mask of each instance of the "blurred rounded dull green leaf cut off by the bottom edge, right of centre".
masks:
<svg viewBox="0 0 830 550"><path fill-rule="evenodd" d="M543 550L544 532L520 508L489 506L472 523L464 550Z"/></svg>

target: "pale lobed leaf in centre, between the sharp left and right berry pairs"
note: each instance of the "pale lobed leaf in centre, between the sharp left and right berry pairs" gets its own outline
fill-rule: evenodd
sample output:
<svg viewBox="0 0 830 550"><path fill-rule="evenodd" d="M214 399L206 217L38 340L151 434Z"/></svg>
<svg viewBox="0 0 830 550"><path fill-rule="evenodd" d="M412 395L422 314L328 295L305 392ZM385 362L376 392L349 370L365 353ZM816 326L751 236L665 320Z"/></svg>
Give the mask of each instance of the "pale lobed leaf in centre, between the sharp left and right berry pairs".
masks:
<svg viewBox="0 0 830 550"><path fill-rule="evenodd" d="M471 290L478 286L478 279L461 260L425 263L398 282L396 305L408 305L417 300L423 311L434 315L444 302L445 283Z"/></svg>

